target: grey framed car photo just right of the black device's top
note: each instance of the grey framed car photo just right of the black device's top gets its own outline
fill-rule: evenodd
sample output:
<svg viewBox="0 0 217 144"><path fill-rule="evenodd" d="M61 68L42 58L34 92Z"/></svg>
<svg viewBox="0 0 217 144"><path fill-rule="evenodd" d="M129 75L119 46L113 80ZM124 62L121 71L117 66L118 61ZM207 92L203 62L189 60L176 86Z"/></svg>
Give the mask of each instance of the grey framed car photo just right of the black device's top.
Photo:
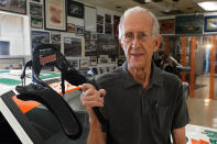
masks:
<svg viewBox="0 0 217 144"><path fill-rule="evenodd" d="M82 56L82 40L75 37L64 37L64 55Z"/></svg>

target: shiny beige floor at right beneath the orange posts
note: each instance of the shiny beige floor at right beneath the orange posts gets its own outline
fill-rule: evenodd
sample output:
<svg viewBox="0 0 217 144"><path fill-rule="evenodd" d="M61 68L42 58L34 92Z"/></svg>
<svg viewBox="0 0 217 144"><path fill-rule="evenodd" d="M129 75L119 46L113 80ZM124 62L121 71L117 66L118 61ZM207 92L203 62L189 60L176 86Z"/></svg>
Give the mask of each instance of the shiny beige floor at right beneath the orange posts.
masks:
<svg viewBox="0 0 217 144"><path fill-rule="evenodd" d="M196 78L194 98L187 99L191 124L217 129L217 77L215 78L215 100L209 98L209 75Z"/></svg>

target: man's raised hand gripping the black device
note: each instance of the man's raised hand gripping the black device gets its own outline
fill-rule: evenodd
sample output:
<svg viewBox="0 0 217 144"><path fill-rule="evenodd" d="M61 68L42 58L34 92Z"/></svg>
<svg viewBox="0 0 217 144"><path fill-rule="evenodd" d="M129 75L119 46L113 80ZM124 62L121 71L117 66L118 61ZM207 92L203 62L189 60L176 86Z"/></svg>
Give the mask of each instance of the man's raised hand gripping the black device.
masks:
<svg viewBox="0 0 217 144"><path fill-rule="evenodd" d="M105 89L97 90L90 84L83 85L83 93L80 96L80 101L84 108L87 110L90 119L95 119L96 115L93 111L94 107L104 107L104 96L106 95Z"/></svg>

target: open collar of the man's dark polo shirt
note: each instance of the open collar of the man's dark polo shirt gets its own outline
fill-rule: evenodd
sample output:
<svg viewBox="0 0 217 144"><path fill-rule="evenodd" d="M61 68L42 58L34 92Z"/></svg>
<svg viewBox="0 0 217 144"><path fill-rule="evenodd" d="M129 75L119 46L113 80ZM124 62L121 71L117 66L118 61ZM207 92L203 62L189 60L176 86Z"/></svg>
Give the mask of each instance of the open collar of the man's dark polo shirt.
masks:
<svg viewBox="0 0 217 144"><path fill-rule="evenodd" d="M151 88L153 86L162 86L163 81L162 81L162 77L160 76L160 73L162 71L160 68L158 68L154 63L152 63L151 65L151 78L150 78L150 84L148 86L148 88ZM123 63L122 65L122 70L126 74L124 76L124 80L123 80L123 86L124 88L129 88L132 87L134 85L138 85L138 81L135 81L132 77L132 75L130 74L130 71L128 70L128 63L127 60Z"/></svg>

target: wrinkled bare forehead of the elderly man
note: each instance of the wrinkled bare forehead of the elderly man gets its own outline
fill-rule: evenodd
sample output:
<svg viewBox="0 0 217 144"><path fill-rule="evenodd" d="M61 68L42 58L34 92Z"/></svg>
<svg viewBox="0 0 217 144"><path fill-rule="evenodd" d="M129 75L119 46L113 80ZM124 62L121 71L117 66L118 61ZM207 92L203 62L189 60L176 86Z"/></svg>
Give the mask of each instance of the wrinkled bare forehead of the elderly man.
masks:
<svg viewBox="0 0 217 144"><path fill-rule="evenodd" d="M135 11L127 13L122 20L122 31L152 32L153 19L149 12Z"/></svg>

